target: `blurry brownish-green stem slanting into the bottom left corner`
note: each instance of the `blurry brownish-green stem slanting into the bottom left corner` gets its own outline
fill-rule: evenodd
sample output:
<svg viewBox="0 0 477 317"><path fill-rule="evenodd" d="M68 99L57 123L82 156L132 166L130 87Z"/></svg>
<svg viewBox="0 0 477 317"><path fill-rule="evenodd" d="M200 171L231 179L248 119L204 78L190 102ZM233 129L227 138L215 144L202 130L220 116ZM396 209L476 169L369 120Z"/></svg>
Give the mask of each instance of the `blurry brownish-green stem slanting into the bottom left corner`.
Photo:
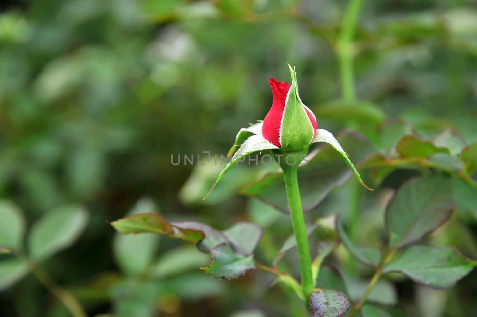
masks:
<svg viewBox="0 0 477 317"><path fill-rule="evenodd" d="M28 261L31 273L45 286L54 296L56 296L63 305L70 311L74 317L87 317L81 305L76 298L52 279L37 263Z"/></svg>

